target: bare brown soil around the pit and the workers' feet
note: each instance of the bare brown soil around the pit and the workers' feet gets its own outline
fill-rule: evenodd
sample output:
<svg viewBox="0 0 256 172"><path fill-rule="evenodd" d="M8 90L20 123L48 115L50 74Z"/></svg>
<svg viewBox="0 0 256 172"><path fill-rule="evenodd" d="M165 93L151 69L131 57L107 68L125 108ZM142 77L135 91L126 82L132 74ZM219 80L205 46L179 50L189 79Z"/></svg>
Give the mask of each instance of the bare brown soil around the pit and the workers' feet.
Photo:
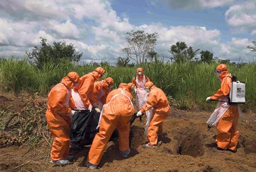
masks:
<svg viewBox="0 0 256 172"><path fill-rule="evenodd" d="M45 99L42 99L45 101ZM4 108L21 109L25 102L0 96ZM214 150L216 129L207 131L206 121L210 112L188 112L171 108L164 122L164 135L157 148L146 149L144 137L145 119L136 119L131 126L131 153L119 155L118 140L109 142L99 164L100 171L256 171L256 115L243 114L238 124L240 138L236 153ZM1 129L2 130L2 129ZM3 131L1 131L3 132ZM7 132L7 131L4 131ZM0 171L88 171L80 167L87 159L89 147L71 151L77 159L74 163L59 166L49 163L50 146L40 142L36 149L26 146L0 149ZM96 171L96 170L91 170Z"/></svg>

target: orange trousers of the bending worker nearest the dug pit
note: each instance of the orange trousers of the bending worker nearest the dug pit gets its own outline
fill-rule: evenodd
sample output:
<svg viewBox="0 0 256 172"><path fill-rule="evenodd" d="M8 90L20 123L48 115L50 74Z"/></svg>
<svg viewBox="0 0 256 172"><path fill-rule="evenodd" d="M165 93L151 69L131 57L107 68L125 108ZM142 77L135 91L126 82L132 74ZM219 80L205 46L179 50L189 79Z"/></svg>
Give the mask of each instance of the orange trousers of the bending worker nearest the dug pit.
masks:
<svg viewBox="0 0 256 172"><path fill-rule="evenodd" d="M150 124L148 126L148 140L149 145L157 145L158 144L158 136L162 135L162 125L163 122L167 119L169 115L170 110L168 113L156 113L153 112L153 118L150 121Z"/></svg>

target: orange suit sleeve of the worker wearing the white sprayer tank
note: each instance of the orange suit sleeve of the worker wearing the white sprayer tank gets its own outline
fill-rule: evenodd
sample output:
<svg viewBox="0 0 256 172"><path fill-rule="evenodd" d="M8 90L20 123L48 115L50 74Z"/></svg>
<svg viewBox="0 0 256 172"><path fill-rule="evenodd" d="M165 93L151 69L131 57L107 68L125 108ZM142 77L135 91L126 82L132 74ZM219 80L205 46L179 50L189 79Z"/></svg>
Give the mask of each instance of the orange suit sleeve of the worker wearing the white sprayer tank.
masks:
<svg viewBox="0 0 256 172"><path fill-rule="evenodd" d="M229 95L230 93L230 87L231 87L231 78L230 77L224 77L222 79L222 84L220 86L220 89L216 91L216 93L211 96L212 100L221 99L224 96Z"/></svg>

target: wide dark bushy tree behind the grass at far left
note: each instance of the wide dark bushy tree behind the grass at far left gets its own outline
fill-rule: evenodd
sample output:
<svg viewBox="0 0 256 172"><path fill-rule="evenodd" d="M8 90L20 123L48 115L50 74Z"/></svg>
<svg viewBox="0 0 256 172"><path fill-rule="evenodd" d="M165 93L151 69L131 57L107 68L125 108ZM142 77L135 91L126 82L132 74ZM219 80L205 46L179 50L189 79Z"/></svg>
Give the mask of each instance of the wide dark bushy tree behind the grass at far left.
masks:
<svg viewBox="0 0 256 172"><path fill-rule="evenodd" d="M27 56L34 59L34 63L41 68L44 63L60 63L61 60L69 62L78 62L83 53L75 51L73 44L66 45L65 41L53 42L53 45L47 43L45 38L40 37L41 47L34 46L32 53L26 52Z"/></svg>

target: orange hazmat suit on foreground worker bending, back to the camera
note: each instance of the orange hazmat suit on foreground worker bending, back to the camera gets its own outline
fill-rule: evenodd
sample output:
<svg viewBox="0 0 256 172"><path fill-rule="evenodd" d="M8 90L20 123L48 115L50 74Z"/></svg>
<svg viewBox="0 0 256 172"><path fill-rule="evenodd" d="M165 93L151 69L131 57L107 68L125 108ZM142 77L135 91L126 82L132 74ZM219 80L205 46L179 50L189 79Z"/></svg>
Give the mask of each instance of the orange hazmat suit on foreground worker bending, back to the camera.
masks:
<svg viewBox="0 0 256 172"><path fill-rule="evenodd" d="M100 163L104 149L115 128L119 133L119 150L129 150L129 120L134 112L130 94L131 85L122 83L118 89L108 94L107 104L102 109L100 131L96 134L88 153L89 163L94 165Z"/></svg>

